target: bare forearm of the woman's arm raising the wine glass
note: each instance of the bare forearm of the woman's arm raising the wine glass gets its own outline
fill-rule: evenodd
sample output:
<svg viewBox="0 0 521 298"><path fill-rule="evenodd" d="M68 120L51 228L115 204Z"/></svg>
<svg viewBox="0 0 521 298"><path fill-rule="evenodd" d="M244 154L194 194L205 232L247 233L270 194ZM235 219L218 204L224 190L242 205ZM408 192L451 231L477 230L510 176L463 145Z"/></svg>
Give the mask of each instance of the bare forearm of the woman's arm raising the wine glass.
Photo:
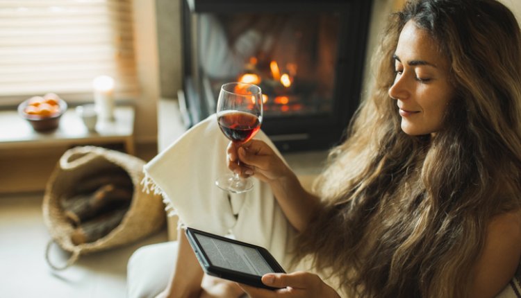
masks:
<svg viewBox="0 0 521 298"><path fill-rule="evenodd" d="M286 218L297 231L303 231L320 211L320 199L308 193L290 169L283 178L270 182L270 186Z"/></svg>

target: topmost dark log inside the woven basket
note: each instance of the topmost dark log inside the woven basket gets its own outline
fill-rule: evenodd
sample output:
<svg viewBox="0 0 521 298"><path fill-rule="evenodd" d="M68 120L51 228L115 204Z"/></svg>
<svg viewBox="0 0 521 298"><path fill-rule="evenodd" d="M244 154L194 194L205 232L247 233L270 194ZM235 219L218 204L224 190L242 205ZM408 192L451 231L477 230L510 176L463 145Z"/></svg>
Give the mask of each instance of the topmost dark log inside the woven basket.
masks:
<svg viewBox="0 0 521 298"><path fill-rule="evenodd" d="M127 173L122 170L108 172L108 173L97 173L81 179L75 187L76 193L92 193L96 191L100 186L106 184L114 184L121 186L126 189L132 189L132 179Z"/></svg>

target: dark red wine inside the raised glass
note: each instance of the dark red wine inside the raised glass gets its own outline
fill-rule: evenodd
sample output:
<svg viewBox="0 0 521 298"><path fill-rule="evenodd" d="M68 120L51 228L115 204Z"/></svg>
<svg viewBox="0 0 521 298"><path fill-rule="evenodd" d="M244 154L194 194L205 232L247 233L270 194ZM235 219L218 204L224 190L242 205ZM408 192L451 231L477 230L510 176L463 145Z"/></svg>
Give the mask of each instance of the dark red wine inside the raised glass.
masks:
<svg viewBox="0 0 521 298"><path fill-rule="evenodd" d="M222 133L235 143L246 143L261 128L261 121L246 112L224 112L217 121Z"/></svg>

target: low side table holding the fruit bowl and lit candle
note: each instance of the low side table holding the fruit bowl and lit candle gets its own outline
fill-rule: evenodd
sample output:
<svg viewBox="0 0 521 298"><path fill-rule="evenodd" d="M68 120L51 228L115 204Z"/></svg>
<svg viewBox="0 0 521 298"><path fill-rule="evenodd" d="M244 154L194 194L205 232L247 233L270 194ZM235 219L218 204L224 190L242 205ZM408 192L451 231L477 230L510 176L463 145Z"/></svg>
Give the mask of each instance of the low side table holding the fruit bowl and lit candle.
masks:
<svg viewBox="0 0 521 298"><path fill-rule="evenodd" d="M134 114L134 107L118 106L114 121L98 121L96 131L90 132L74 109L69 109L58 129L35 132L16 111L0 111L0 150L122 143L126 152L134 155Z"/></svg>

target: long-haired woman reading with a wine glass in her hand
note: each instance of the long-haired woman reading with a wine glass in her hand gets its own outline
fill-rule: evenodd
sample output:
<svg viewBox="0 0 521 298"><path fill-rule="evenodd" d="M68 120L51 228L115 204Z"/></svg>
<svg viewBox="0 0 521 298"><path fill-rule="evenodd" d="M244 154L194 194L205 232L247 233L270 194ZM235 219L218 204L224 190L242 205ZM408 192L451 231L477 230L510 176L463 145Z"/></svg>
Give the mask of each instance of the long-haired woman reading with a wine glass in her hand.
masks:
<svg viewBox="0 0 521 298"><path fill-rule="evenodd" d="M270 185L299 231L296 259L311 257L320 273L266 274L283 289L240 285L251 297L495 297L513 277L519 25L495 0L410 1L389 24L374 93L332 150L316 195L265 142L230 144L229 168ZM195 262L183 241L181 263ZM173 288L197 292L199 268L184 268ZM217 285L225 297L240 293Z"/></svg>

